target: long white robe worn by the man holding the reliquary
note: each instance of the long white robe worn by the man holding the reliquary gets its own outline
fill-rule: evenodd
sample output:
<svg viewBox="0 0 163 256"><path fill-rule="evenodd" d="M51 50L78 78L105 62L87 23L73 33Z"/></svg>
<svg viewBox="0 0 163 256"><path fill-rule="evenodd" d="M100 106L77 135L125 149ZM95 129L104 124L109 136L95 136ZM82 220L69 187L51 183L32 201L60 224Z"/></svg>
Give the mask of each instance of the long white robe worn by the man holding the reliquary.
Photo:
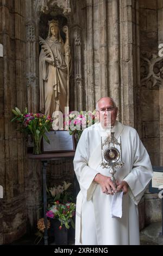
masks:
<svg viewBox="0 0 163 256"><path fill-rule="evenodd" d="M139 245L139 215L137 204L153 170L148 153L132 127L116 121L112 131L122 139L122 159L125 165L117 169L115 178L125 180L129 192L123 195L122 218L111 217L112 196L102 193L93 179L97 173L106 176L109 169L100 167L101 136L108 136L101 124L85 129L78 142L74 170L80 185L76 208L76 245Z"/></svg>

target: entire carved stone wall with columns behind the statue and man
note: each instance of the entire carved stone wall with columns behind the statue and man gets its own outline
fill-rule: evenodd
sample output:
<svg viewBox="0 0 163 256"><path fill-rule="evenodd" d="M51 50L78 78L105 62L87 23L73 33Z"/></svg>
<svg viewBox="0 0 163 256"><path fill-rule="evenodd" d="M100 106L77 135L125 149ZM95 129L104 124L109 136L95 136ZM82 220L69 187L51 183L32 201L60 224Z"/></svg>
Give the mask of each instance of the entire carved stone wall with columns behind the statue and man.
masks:
<svg viewBox="0 0 163 256"><path fill-rule="evenodd" d="M0 243L24 234L26 221L27 230L33 230L40 217L41 164L27 160L26 143L10 119L15 106L39 111L43 19L60 15L70 27L70 108L93 111L100 97L114 97L118 120L137 129L152 164L162 165L162 13L162 0L0 1ZM63 179L73 181L72 161L51 162L47 185ZM147 191L139 209L141 228L160 220L156 194Z"/></svg>

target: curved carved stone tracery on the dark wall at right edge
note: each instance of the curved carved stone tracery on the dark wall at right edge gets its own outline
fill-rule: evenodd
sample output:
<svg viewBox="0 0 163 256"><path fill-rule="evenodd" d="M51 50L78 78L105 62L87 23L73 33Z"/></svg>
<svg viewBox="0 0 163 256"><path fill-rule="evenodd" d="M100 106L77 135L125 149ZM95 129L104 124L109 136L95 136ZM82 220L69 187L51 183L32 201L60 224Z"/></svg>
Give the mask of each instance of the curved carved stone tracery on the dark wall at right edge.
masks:
<svg viewBox="0 0 163 256"><path fill-rule="evenodd" d="M140 74L143 87L158 89L163 85L163 57L142 53Z"/></svg>

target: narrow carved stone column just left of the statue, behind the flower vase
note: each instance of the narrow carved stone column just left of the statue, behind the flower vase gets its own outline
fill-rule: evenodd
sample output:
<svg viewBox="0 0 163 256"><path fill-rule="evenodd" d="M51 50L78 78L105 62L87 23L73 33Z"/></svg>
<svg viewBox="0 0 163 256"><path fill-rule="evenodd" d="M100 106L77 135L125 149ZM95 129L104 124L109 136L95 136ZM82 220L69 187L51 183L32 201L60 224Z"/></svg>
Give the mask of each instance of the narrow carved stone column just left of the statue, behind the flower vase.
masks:
<svg viewBox="0 0 163 256"><path fill-rule="evenodd" d="M39 11L46 2L26 0L26 86L28 112L39 113ZM26 172L27 232L34 232L40 218L42 198L42 166L38 160L28 160Z"/></svg>

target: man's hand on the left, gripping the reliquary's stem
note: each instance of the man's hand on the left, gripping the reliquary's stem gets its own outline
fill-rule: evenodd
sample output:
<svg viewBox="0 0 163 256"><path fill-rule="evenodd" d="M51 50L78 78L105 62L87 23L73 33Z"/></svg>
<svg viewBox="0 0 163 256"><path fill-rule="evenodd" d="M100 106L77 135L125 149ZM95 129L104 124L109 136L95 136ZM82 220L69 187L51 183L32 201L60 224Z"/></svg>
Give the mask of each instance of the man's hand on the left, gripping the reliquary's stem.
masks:
<svg viewBox="0 0 163 256"><path fill-rule="evenodd" d="M114 192L115 193L117 192L117 190L116 190L113 182L111 181L110 177L104 176L104 175L98 173L95 176L94 180L101 186L101 190L102 190L103 193L113 195Z"/></svg>

